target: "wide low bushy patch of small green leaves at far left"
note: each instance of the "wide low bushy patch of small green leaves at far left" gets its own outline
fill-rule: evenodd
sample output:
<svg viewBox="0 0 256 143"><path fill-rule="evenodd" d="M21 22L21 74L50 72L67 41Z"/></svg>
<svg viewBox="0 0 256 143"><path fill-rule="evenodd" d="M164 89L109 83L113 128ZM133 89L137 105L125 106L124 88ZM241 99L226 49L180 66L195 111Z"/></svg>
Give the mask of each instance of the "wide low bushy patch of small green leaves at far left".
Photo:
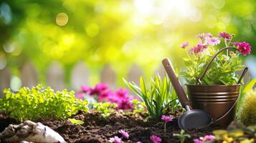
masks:
<svg viewBox="0 0 256 143"><path fill-rule="evenodd" d="M54 92L42 85L29 89L23 87L19 92L4 89L5 97L0 99L0 111L19 121L27 119L66 119L79 110L87 112L87 100L75 98L74 92Z"/></svg>

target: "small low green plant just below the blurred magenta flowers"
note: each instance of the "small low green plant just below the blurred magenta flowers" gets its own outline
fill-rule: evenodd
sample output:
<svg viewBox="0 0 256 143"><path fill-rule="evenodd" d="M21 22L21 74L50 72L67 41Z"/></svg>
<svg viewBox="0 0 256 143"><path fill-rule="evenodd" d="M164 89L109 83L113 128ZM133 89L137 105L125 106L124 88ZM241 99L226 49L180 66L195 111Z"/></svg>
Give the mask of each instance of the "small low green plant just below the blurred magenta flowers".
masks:
<svg viewBox="0 0 256 143"><path fill-rule="evenodd" d="M115 109L117 109L118 105L113 104L110 102L98 102L98 103L92 103L93 109L101 113L101 117L108 118L111 114L115 112Z"/></svg>

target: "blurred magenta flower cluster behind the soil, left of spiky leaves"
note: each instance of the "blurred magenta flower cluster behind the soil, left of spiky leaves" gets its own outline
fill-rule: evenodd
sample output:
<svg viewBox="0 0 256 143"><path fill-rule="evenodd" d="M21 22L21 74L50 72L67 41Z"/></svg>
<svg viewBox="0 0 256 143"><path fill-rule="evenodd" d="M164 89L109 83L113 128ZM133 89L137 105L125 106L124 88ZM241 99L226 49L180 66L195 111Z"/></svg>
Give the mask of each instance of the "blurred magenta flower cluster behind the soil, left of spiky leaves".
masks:
<svg viewBox="0 0 256 143"><path fill-rule="evenodd" d="M77 98L83 99L84 94L95 96L99 102L112 102L118 104L118 109L132 109L131 100L133 96L129 95L128 90L118 89L116 92L112 92L108 88L108 84L100 83L94 88L81 86L82 92L77 94Z"/></svg>

